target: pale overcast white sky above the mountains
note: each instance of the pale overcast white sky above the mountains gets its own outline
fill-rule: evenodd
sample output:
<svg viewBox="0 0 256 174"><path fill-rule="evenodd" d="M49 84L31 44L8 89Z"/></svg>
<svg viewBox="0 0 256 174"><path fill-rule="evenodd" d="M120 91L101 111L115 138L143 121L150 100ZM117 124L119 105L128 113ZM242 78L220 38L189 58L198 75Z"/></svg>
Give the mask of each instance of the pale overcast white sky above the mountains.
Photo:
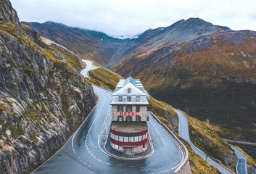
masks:
<svg viewBox="0 0 256 174"><path fill-rule="evenodd" d="M256 30L255 0L11 0L21 21L62 22L112 36L134 36L199 17L233 30Z"/></svg>

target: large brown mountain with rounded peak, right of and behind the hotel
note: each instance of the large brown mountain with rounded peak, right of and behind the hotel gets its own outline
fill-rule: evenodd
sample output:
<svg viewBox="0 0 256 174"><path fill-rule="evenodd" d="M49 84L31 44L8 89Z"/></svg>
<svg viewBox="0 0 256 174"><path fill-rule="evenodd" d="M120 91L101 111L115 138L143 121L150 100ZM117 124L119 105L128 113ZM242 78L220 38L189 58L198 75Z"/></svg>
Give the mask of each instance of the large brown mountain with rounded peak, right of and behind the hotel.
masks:
<svg viewBox="0 0 256 174"><path fill-rule="evenodd" d="M255 33L190 18L119 41L104 61L88 57L124 77L132 70L155 98L221 125L223 137L246 141L256 137Z"/></svg>

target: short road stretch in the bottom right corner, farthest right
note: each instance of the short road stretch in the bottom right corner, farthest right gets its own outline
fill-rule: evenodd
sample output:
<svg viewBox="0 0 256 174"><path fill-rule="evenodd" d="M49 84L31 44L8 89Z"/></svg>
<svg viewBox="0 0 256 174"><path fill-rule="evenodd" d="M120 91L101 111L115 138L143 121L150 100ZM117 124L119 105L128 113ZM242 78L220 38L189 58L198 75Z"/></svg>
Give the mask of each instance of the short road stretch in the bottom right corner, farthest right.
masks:
<svg viewBox="0 0 256 174"><path fill-rule="evenodd" d="M236 165L236 172L239 174L247 174L247 161L244 157L244 154L236 149L235 146L232 146L232 149L236 152L236 156L238 157L238 162Z"/></svg>

